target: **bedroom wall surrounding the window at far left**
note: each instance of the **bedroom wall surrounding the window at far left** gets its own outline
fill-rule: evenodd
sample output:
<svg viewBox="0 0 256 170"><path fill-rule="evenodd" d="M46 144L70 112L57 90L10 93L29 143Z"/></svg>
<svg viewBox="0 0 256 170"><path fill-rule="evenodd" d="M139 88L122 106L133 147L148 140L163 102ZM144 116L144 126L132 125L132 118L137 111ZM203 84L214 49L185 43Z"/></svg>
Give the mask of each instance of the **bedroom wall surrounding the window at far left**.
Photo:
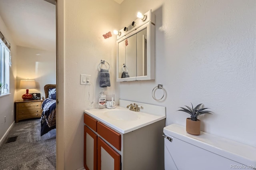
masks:
<svg viewBox="0 0 256 170"><path fill-rule="evenodd" d="M15 99L15 87L16 87L16 44L14 43L12 36L7 29L2 17L0 16L0 31L4 34L4 37L11 43L11 56L12 67L10 67L10 95L0 97L0 140L8 130L8 128L14 123L14 101ZM6 122L4 123L4 117L6 116ZM4 140L4 138L2 139Z"/></svg>

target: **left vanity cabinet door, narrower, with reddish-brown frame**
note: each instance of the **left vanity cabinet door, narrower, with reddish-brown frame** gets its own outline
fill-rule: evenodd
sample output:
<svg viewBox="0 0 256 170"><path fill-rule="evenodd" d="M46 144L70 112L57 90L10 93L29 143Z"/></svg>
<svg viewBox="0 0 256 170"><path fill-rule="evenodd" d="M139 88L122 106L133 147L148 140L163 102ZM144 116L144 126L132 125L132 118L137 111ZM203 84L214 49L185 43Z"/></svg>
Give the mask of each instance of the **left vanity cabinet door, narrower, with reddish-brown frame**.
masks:
<svg viewBox="0 0 256 170"><path fill-rule="evenodd" d="M97 135L84 126L84 168L97 170Z"/></svg>

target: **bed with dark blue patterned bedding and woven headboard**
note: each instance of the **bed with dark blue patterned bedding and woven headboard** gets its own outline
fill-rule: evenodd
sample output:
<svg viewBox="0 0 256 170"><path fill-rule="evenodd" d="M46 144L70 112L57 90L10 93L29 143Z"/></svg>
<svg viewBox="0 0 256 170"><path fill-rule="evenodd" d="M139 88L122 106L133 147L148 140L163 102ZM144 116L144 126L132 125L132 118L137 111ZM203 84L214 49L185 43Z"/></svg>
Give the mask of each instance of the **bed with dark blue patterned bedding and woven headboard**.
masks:
<svg viewBox="0 0 256 170"><path fill-rule="evenodd" d="M45 100L42 103L41 136L56 128L56 85L44 86Z"/></svg>

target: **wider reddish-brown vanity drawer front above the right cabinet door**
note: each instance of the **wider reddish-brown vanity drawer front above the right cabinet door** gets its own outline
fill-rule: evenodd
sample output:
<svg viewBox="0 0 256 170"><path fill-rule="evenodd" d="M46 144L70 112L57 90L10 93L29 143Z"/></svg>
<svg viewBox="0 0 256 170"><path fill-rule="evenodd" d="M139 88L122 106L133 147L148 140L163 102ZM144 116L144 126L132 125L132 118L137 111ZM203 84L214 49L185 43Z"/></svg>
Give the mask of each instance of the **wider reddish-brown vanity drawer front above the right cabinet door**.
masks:
<svg viewBox="0 0 256 170"><path fill-rule="evenodd" d="M101 122L97 122L97 132L118 150L121 150L121 134L107 127Z"/></svg>

